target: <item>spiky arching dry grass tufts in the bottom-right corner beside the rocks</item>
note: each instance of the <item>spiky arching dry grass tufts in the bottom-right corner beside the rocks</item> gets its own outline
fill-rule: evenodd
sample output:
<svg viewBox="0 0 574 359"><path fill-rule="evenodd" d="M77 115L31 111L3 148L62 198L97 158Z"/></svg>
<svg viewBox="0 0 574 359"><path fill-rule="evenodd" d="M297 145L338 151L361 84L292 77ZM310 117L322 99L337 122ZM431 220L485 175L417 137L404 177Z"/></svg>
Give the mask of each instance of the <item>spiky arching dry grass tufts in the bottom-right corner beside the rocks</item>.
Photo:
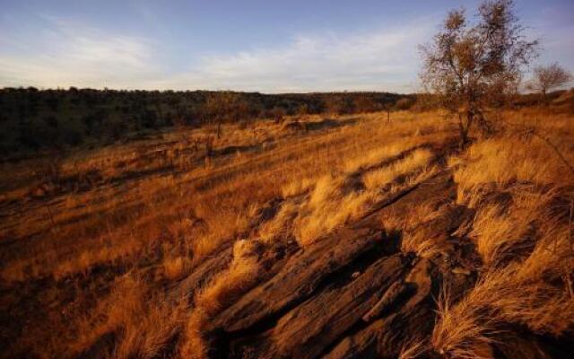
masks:
<svg viewBox="0 0 574 359"><path fill-rule="evenodd" d="M498 338L512 334L507 323L561 336L574 323L574 302L561 288L524 280L517 275L520 270L511 266L483 275L474 289L454 304L448 293L443 293L432 346L443 355L490 358L491 345L503 345Z"/></svg>

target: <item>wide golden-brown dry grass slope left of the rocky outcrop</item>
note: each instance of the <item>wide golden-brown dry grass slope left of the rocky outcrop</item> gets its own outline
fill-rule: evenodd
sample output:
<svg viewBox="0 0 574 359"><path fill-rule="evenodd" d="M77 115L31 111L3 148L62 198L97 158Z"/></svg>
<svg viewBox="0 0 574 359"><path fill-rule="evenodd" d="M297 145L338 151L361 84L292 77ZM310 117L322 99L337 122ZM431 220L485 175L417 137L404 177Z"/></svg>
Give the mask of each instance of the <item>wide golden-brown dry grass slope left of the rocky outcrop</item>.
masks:
<svg viewBox="0 0 574 359"><path fill-rule="evenodd" d="M361 162L367 169L377 164L370 162L384 161L397 151L440 144L452 136L451 127L437 123L434 113L397 113L390 124L381 121L384 116L363 115L350 122L337 118L344 126L307 132L285 131L270 122L256 123L255 130L226 126L222 139L213 141L215 154L209 158L209 166L205 166L204 147L197 150L192 145L194 138L208 136L204 128L74 153L58 163L57 177L49 180L36 180L33 171L47 160L12 166L0 176L0 188L4 188L0 208L5 215L0 233L6 240L0 254L0 277L10 291L38 279L50 283L39 290L36 302L30 303L43 308L39 314L47 313L41 328L50 329L24 330L27 334L14 342L11 353L60 356L65 349L54 337L71 337L65 341L75 343L74 352L79 353L107 332L114 333L116 355L140 353L135 347L152 346L146 341L159 340L153 339L151 332L146 334L152 329L147 329L143 318L148 312L154 318L153 312L166 317L173 311L172 303L160 305L166 283L186 276L223 244L252 233L264 243L293 238L308 225L293 225L293 221L306 221L302 209L310 205L304 194L315 191L317 181L326 176L333 180L337 174L349 176L345 171L349 163L355 162L356 167ZM434 132L421 136L421 127L431 127ZM381 139L394 149L381 151ZM365 162L365 153L375 154ZM37 190L40 187L43 189ZM309 221L309 238L360 215L371 201L371 195L361 191L350 197L346 193L341 198L323 197L325 204L319 204L317 196L313 206L333 211L325 214L332 222L313 229L322 218L313 212L317 217L315 222ZM339 214L338 201L345 197L346 214ZM277 198L284 198L278 214L272 219L259 218L261 208ZM196 295L197 304L186 327L191 332L202 328L205 317L201 313L225 305L226 293L240 293L248 287L255 280L250 279L255 267L252 269L249 271L247 264L234 265L221 277L214 277L202 294ZM134 295L133 301L126 294L126 300L116 304L129 307L121 310L124 317L108 315L115 311L109 310L113 301L105 299L107 293L123 291L113 289L115 278L127 272L145 274L144 292ZM146 296L158 307L141 302ZM19 295L10 300L22 301ZM18 308L22 311L11 313L15 316L13 333L21 332L22 323L36 316L24 310L24 305ZM60 311L69 314L62 317ZM130 322L131 318L142 320ZM141 338L134 331L138 325L142 326ZM165 332L171 333L171 329ZM143 342L138 342L140 339Z"/></svg>

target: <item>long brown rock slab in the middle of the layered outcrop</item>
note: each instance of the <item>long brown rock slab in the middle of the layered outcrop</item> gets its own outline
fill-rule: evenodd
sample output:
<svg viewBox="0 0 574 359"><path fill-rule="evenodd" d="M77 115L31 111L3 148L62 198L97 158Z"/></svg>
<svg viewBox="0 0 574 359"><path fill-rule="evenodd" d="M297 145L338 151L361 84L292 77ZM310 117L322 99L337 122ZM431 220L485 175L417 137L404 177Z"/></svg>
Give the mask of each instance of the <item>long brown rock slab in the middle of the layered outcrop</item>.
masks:
<svg viewBox="0 0 574 359"><path fill-rule="evenodd" d="M390 285L404 274L407 258L379 258L347 284L344 278L289 311L250 352L260 358L314 358L358 324Z"/></svg>

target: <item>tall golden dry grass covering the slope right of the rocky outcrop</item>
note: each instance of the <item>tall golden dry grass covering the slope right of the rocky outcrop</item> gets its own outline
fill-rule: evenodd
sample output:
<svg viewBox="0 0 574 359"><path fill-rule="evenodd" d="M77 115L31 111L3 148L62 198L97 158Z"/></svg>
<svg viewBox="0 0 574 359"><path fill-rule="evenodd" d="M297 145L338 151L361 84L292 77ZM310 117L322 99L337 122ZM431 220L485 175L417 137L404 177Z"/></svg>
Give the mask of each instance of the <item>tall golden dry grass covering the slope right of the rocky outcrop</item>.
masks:
<svg viewBox="0 0 574 359"><path fill-rule="evenodd" d="M564 130L561 121L538 131L563 141L555 132ZM559 151L572 158L561 141ZM481 358L492 356L492 345L504 346L499 340L514 335L512 325L563 335L574 324L571 173L544 142L516 134L474 144L450 164L458 201L477 209L457 234L474 241L483 273L458 302L441 296L432 346Z"/></svg>

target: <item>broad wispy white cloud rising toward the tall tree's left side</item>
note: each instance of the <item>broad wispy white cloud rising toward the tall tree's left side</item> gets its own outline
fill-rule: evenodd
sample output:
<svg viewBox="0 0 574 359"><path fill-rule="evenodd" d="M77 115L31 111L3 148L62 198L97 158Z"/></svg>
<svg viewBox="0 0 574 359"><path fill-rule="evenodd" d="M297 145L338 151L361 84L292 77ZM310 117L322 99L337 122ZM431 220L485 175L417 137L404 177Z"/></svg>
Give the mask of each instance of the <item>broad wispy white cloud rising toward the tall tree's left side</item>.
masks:
<svg viewBox="0 0 574 359"><path fill-rule="evenodd" d="M279 48L203 57L195 69L158 85L263 92L386 90L410 92L417 45L429 24L339 36L301 35Z"/></svg>

